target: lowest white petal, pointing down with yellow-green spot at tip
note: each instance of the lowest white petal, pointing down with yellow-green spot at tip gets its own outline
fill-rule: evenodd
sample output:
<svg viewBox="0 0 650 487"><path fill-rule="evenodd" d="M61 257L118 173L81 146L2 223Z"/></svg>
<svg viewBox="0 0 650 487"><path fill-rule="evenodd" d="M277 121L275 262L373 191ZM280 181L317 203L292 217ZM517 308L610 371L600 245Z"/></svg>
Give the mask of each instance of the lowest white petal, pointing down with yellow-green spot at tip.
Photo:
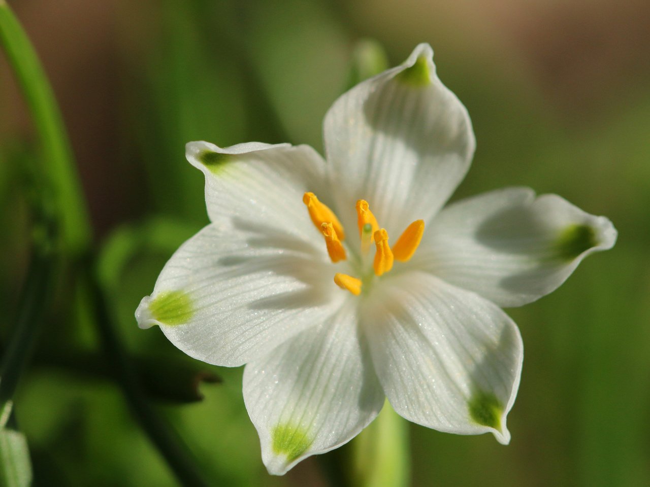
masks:
<svg viewBox="0 0 650 487"><path fill-rule="evenodd" d="M244 401L269 473L348 442L377 416L383 392L359 342L357 306L246 365Z"/></svg>

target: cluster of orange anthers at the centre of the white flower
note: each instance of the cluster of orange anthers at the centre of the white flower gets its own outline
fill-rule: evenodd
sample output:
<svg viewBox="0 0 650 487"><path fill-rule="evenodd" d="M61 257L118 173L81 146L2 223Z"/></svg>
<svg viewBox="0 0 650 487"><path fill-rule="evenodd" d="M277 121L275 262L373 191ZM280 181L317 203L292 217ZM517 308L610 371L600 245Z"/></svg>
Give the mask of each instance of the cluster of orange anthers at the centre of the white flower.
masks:
<svg viewBox="0 0 650 487"><path fill-rule="evenodd" d="M309 218L321 232L325 239L328 254L332 262L340 262L347 259L343 240L345 232L343 225L336 217L334 212L327 205L324 205L313 193L305 193L302 197L303 203L307 206ZM415 254L415 250L424 234L424 221L415 220L406 230L402 232L400 238L391 247L388 243L388 232L380 228L377 219L370 211L370 206L365 199L359 199L356 205L357 209L357 226L359 227L359 247L361 249L361 279L351 275L336 273L334 282L344 290L348 290L354 295L361 294L361 288L370 284L374 276L381 277L393 268L393 262L407 262ZM370 247L372 242L375 244L374 259L372 260L372 272L364 271L365 262L369 262Z"/></svg>

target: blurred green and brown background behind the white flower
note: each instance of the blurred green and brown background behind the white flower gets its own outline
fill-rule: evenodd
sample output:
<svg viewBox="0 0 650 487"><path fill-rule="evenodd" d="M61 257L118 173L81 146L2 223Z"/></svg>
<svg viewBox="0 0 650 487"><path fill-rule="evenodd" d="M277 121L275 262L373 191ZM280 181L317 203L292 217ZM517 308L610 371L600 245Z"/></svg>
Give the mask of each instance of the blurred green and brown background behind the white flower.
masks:
<svg viewBox="0 0 650 487"><path fill-rule="evenodd" d="M10 5L62 109L118 332L156 410L214 485L322 486L327 477L314 458L270 477L244 409L242 370L193 363L157 329L136 327L133 312L166 259L207 223L203 177L185 162L184 145L321 150L322 118L347 86L361 38L382 43L391 66L419 42L434 47L439 76L467 106L478 140L454 199L531 186L608 216L619 231L614 249L588 258L552 295L508 310L526 351L510 446L411 425L413 485L650 485L650 3ZM21 181L33 140L0 56L0 345L29 260ZM129 413L79 294L59 283L15 398L34 485L176 485ZM201 384L205 399L192 402L183 386L203 377L197 371L222 382Z"/></svg>

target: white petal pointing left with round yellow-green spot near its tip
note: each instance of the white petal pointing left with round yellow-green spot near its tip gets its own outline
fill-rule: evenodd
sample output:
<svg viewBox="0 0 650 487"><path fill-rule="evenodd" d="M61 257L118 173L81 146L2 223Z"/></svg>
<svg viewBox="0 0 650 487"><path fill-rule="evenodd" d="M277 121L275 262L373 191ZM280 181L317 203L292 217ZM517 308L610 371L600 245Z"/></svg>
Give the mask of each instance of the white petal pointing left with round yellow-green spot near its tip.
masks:
<svg viewBox="0 0 650 487"><path fill-rule="evenodd" d="M332 266L271 223L213 223L170 258L136 318L194 358L239 366L341 306L345 293L323 277Z"/></svg>

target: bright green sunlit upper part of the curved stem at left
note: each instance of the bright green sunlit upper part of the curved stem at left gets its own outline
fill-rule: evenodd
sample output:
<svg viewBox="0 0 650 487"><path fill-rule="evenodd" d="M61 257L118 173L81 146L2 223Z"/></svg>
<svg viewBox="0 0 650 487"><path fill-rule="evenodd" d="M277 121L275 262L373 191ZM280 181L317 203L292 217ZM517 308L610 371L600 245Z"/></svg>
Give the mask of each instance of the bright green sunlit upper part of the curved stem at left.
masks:
<svg viewBox="0 0 650 487"><path fill-rule="evenodd" d="M53 188L61 236L66 249L79 255L90 245L91 230L66 130L36 51L5 0L0 0L0 45L16 73L38 132L41 170Z"/></svg>

